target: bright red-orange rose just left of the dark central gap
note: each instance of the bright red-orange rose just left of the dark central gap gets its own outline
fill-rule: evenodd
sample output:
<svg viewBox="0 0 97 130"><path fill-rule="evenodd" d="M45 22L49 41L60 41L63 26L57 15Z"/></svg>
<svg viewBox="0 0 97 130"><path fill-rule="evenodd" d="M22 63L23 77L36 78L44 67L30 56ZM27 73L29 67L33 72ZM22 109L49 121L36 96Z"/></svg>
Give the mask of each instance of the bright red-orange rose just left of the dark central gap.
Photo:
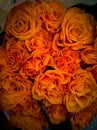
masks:
<svg viewBox="0 0 97 130"><path fill-rule="evenodd" d="M52 62L52 57L43 50L33 51L32 57L20 67L20 75L35 78L39 73L45 71L46 66Z"/></svg>

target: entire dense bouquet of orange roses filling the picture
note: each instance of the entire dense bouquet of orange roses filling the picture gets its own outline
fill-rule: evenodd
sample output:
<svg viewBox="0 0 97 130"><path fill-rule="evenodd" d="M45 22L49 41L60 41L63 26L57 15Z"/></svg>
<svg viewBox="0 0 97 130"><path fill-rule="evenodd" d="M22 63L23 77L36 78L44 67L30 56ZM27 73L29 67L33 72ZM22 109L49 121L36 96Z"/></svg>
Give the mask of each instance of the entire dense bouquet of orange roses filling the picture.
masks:
<svg viewBox="0 0 97 130"><path fill-rule="evenodd" d="M22 130L97 114L97 23L59 1L26 1L9 12L0 46L0 110ZM44 114L45 113L45 114Z"/></svg>

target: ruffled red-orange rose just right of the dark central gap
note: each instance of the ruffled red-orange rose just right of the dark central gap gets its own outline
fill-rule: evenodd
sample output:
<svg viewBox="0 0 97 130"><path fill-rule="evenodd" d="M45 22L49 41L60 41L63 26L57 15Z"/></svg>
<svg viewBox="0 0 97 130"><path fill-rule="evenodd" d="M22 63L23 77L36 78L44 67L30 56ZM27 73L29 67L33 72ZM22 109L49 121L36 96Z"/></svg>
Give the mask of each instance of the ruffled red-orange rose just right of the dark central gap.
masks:
<svg viewBox="0 0 97 130"><path fill-rule="evenodd" d="M73 74L80 68L79 52L64 48L61 55L55 59L58 69Z"/></svg>

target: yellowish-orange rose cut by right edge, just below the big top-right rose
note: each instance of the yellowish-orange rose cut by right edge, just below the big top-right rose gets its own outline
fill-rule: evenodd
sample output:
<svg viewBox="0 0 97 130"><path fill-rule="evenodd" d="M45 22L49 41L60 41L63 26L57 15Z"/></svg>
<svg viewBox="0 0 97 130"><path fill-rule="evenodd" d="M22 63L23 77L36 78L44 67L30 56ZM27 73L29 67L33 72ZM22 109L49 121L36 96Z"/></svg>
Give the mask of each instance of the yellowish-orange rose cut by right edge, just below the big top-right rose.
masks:
<svg viewBox="0 0 97 130"><path fill-rule="evenodd" d="M97 64L97 52L92 46L89 46L81 51L81 60L89 65Z"/></svg>

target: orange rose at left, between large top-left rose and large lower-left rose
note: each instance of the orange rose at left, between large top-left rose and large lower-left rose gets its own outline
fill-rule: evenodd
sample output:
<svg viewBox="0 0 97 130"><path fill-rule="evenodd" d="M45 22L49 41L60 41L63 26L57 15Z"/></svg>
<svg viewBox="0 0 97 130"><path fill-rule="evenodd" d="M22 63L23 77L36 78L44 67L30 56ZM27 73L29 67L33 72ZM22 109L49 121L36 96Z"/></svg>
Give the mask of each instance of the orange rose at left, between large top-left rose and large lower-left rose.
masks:
<svg viewBox="0 0 97 130"><path fill-rule="evenodd" d="M6 53L2 60L5 72L18 71L20 66L28 59L28 52L23 46L24 42L21 41L14 41L13 39L7 41Z"/></svg>

